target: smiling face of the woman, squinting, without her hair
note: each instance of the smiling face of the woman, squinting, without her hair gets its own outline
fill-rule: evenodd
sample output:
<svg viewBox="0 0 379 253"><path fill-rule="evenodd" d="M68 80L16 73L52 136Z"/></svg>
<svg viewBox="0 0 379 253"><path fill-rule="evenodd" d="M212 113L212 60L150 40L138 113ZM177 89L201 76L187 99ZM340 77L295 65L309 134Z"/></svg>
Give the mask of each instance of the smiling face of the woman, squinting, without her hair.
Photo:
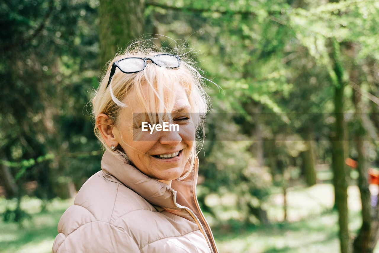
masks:
<svg viewBox="0 0 379 253"><path fill-rule="evenodd" d="M142 122L149 122L149 118L145 117L143 107L132 90L126 98L127 107L122 110L114 132L116 141L141 172L168 184L182 176L195 139L191 106L183 87L179 83L176 85L178 89L171 112L172 120L168 119L168 123L178 124L179 131L154 130L152 134L150 130L142 131ZM144 89L148 87L144 85ZM150 129L149 126L147 129Z"/></svg>

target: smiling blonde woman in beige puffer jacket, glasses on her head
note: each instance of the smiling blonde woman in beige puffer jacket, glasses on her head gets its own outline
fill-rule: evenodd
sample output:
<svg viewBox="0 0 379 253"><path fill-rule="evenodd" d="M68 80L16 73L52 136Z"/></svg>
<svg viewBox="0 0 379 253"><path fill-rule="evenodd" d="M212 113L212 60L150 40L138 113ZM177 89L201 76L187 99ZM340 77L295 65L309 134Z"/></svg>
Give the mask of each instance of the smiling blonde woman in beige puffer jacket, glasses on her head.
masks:
<svg viewBox="0 0 379 253"><path fill-rule="evenodd" d="M102 170L62 215L52 252L217 252L196 198L201 83L177 55L111 61L92 100Z"/></svg>

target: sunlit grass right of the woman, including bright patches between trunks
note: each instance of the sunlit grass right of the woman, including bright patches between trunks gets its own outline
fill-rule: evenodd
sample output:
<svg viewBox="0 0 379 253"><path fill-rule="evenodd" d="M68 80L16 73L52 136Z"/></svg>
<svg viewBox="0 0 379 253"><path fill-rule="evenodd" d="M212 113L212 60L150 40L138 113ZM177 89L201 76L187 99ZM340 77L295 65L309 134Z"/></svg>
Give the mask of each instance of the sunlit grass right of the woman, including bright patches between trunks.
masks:
<svg viewBox="0 0 379 253"><path fill-rule="evenodd" d="M309 188L290 187L287 192L288 221L283 222L283 194L274 194L265 208L273 222L236 231L215 229L216 243L224 253L319 253L339 252L338 215L331 184ZM356 186L348 188L349 229L356 236L361 225L360 195ZM229 236L228 236L229 234ZM230 236L234 234L235 236ZM379 252L377 246L375 253Z"/></svg>

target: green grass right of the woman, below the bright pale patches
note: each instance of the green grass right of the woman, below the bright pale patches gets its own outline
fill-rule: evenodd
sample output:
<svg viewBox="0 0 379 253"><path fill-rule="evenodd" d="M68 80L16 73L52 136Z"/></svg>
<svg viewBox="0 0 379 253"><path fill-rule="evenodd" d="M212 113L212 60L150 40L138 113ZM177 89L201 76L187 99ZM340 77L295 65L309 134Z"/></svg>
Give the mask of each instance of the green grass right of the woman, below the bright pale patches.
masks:
<svg viewBox="0 0 379 253"><path fill-rule="evenodd" d="M215 237L220 252L223 253L338 252L336 224L337 213L325 212L292 223L278 222L269 226L240 229L232 236L227 231L216 229Z"/></svg>

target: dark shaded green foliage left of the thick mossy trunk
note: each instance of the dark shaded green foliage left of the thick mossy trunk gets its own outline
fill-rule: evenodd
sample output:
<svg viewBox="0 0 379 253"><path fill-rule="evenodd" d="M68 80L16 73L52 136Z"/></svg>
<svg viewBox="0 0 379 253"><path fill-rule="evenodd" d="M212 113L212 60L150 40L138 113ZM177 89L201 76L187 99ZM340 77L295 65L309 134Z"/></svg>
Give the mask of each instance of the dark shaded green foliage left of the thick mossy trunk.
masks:
<svg viewBox="0 0 379 253"><path fill-rule="evenodd" d="M85 112L99 74L96 6L50 0L1 5L0 159L16 180L37 180L39 196L52 198L61 194L54 189L61 175L78 171L74 180L83 183L99 168L86 165L88 173L83 164L62 162L72 152L99 150Z"/></svg>

